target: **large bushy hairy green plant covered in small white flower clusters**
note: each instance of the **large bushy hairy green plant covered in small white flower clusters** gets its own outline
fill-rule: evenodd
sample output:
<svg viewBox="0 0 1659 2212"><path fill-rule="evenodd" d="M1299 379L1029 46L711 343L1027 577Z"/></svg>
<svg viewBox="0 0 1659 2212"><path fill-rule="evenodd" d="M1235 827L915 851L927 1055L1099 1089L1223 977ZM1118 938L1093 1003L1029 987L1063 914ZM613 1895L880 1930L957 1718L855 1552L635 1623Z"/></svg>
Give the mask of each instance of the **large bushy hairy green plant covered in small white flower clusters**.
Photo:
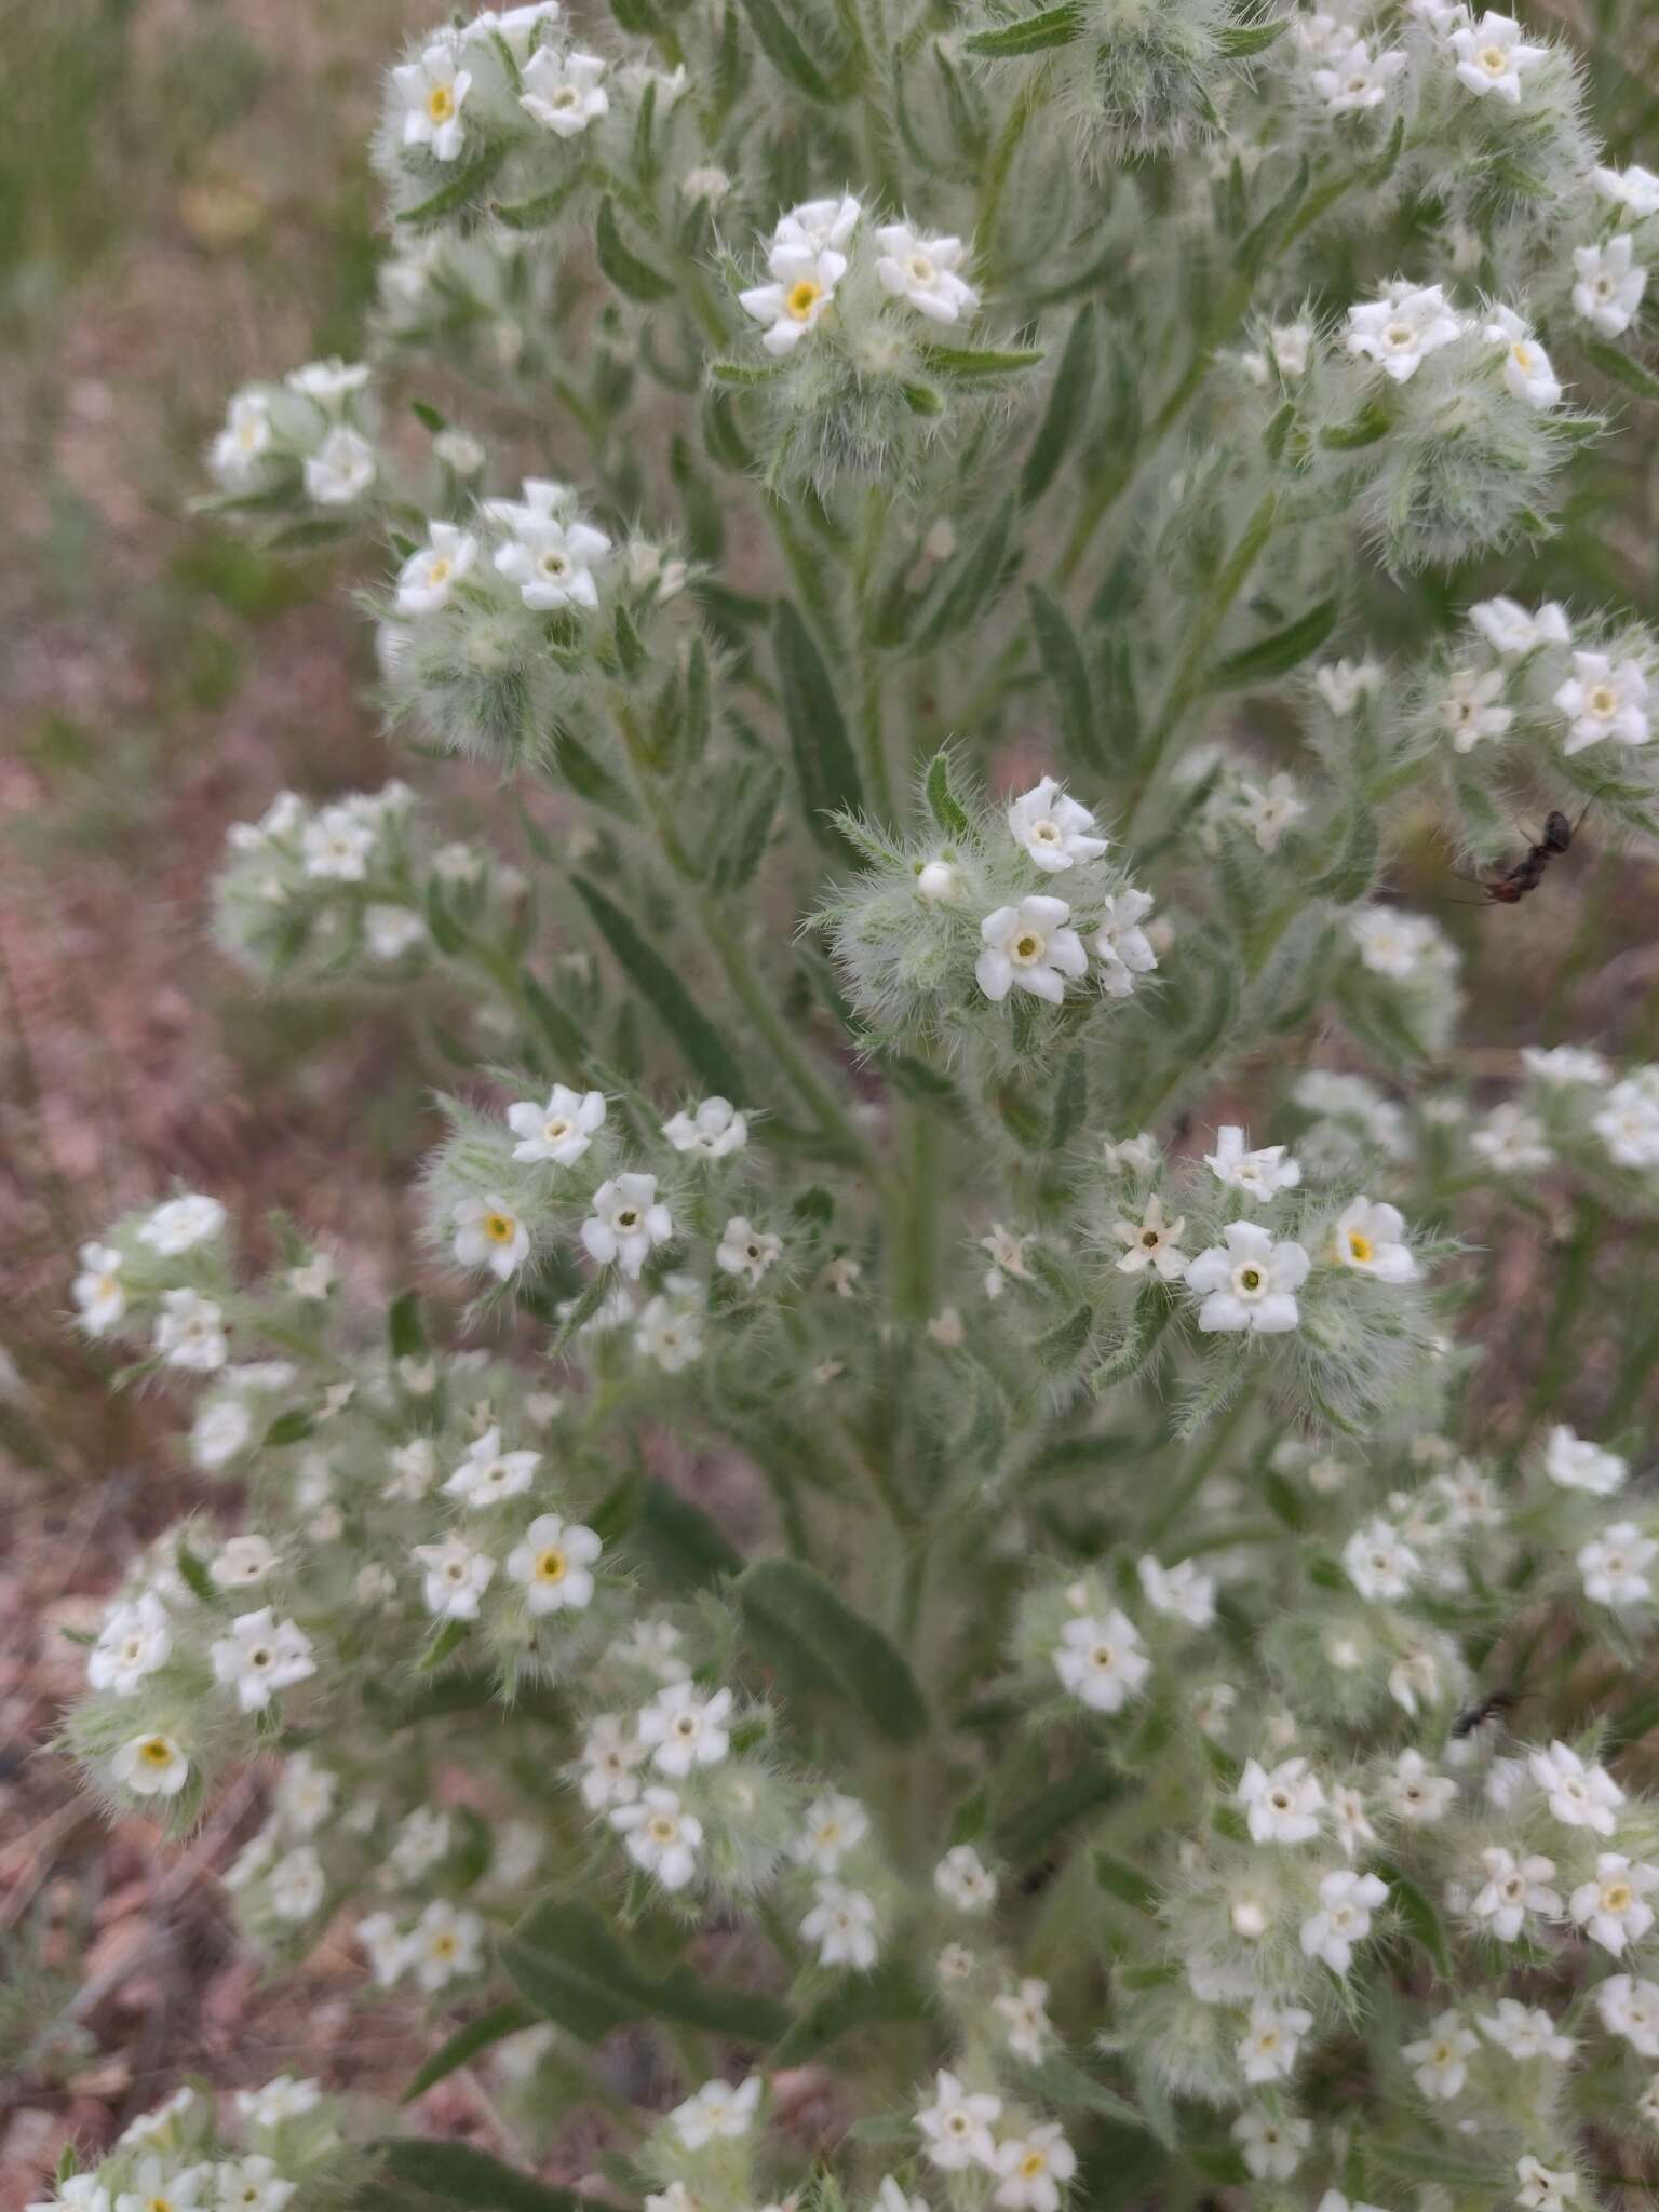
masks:
<svg viewBox="0 0 1659 2212"><path fill-rule="evenodd" d="M226 949L465 1095L385 1314L201 1192L66 1267L237 1498L66 1743L173 1832L257 1763L248 1936L345 1916L648 2212L1588 2205L1659 2126L1659 1071L1464 1084L1387 865L1652 834L1571 553L1659 181L1440 0L613 13L411 40L369 361L210 451L356 533L409 774L531 803L230 836Z"/></svg>

